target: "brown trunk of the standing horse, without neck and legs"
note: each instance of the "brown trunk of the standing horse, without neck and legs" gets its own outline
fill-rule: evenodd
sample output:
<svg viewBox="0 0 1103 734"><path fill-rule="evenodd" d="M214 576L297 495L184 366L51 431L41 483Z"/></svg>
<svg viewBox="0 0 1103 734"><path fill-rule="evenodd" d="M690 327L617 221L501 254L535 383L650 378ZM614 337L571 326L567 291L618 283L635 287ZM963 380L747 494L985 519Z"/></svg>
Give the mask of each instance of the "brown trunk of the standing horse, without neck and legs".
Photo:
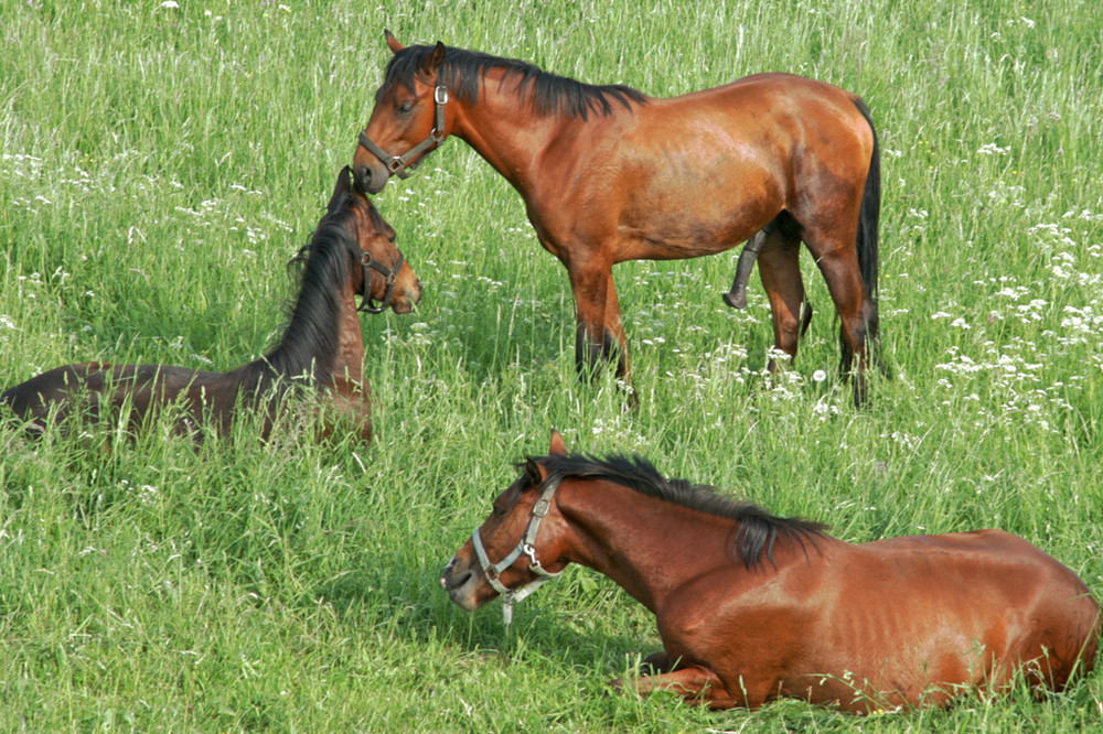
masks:
<svg viewBox="0 0 1103 734"><path fill-rule="evenodd" d="M782 211L802 226L832 228L838 217L852 227L875 144L855 95L789 74L647 98L572 125L546 151L529 215L555 241L615 233L617 262L722 251Z"/></svg>

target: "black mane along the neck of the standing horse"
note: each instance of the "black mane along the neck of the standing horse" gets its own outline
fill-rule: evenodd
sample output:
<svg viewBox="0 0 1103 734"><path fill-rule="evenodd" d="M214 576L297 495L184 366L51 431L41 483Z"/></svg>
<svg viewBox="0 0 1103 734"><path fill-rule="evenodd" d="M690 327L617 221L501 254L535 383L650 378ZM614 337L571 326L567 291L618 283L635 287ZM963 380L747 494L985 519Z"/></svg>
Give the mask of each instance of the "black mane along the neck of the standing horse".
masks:
<svg viewBox="0 0 1103 734"><path fill-rule="evenodd" d="M384 87L397 83L413 89L421 60L432 51L433 46L407 46L399 51L387 64ZM590 112L612 115L614 101L629 109L631 102L646 102L642 93L621 84L583 84L544 72L528 62L451 46L445 50L445 61L437 71L437 78L448 87L449 94L456 95L465 105L474 105L486 72L492 68L505 71L503 84L511 77L517 77L522 100L532 93L533 107L539 115L586 120Z"/></svg>

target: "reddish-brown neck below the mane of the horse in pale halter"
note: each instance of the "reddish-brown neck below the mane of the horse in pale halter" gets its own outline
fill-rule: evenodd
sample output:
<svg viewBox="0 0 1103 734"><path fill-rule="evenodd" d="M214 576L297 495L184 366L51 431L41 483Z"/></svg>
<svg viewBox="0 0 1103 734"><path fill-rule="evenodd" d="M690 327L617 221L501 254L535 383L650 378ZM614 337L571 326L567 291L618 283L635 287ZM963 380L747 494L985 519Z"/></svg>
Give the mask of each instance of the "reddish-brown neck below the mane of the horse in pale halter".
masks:
<svg viewBox="0 0 1103 734"><path fill-rule="evenodd" d="M576 538L567 557L609 576L652 612L687 579L738 563L733 520L611 482L565 479L556 500Z"/></svg>

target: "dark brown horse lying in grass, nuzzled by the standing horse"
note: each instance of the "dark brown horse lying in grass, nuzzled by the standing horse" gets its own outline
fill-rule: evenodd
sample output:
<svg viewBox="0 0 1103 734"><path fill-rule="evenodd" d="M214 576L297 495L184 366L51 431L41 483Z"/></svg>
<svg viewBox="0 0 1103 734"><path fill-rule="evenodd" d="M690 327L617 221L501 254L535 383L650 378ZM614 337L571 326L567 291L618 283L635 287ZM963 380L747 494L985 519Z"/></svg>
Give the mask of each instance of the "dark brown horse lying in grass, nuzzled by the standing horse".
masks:
<svg viewBox="0 0 1103 734"><path fill-rule="evenodd" d="M228 373L101 361L65 365L4 391L0 406L28 421L29 431L41 433L51 419L76 413L97 422L108 408L128 411L129 428L140 431L152 414L178 404L182 410L174 428L199 441L193 429L202 419L226 433L242 409L267 413L267 436L281 398L311 387L370 440L371 391L364 382L358 312L408 313L421 285L395 247L394 229L352 186L349 166L339 174L313 237L291 265L302 269L301 288L282 337L260 359ZM360 307L356 295L362 296Z"/></svg>

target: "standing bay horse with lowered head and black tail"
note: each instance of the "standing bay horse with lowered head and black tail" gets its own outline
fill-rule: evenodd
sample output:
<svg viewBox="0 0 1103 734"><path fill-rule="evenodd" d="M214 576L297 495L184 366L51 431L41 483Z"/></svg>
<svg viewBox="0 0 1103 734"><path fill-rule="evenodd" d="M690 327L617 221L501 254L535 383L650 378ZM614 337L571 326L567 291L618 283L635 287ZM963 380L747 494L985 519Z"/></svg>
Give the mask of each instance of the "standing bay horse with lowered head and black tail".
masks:
<svg viewBox="0 0 1103 734"><path fill-rule="evenodd" d="M517 190L540 245L567 268L580 376L615 360L630 384L613 265L714 255L748 239L754 247L725 301L739 306L757 257L774 346L795 358L811 319L803 241L839 316L840 371L846 379L857 357L854 400L866 402L867 365L880 365L871 349L880 153L861 98L791 74L654 98L385 34L393 56L360 133L356 185L378 193L450 136L467 141Z"/></svg>

